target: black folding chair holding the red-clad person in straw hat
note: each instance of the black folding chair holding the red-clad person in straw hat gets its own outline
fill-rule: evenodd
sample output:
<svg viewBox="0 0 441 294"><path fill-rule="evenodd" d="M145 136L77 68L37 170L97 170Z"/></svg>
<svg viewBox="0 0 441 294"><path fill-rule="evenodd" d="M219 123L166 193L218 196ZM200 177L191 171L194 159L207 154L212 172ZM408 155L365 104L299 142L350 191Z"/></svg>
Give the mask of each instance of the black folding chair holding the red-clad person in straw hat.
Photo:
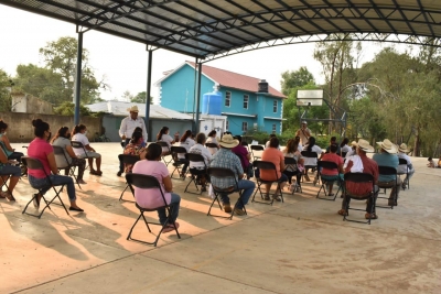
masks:
<svg viewBox="0 0 441 294"><path fill-rule="evenodd" d="M373 188L372 190L364 195L364 196L357 196L357 195L351 195L351 193L347 189L347 184L348 183L370 183ZM344 183L345 183L345 193L346 197L349 197L351 199L354 200L366 200L369 199L372 200L372 207L369 214L372 215L374 213L374 206L375 206L375 183L374 183L374 176L372 174L366 174L366 173L347 173L344 175ZM344 200L344 199L343 199ZM359 209L359 208L351 208L349 205L345 206L344 208L347 213L347 216L349 216L349 209L352 210L359 210L359 211L366 211L366 209ZM355 220L355 219L348 219L346 215L343 216L343 220L347 221L354 221L354 222L362 222L362 224L368 224L370 225L370 218L367 221L361 221L361 220Z"/></svg>

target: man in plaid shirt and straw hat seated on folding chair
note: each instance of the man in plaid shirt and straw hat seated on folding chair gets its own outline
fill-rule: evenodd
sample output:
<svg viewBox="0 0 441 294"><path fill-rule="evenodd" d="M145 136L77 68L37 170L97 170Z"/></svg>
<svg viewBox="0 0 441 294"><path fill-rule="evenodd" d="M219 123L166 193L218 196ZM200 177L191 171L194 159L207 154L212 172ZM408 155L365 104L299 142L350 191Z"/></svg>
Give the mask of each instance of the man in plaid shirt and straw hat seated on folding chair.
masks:
<svg viewBox="0 0 441 294"><path fill-rule="evenodd" d="M212 185L218 189L225 189L230 192L240 190L243 189L241 200L245 204L248 203L249 197L251 196L252 192L255 190L256 184L248 179L244 178L244 168L241 167L239 157L232 152L232 149L239 144L238 140L233 139L230 134L224 134L219 142L220 150L216 152L213 156L213 161L209 164L209 167L224 167L232 170L236 174L237 187L236 182L234 178L217 178L215 176L211 177ZM229 197L226 194L219 194L225 213L232 213L232 206L229 205ZM245 210L243 204L239 202L234 207L234 213L238 216L245 215Z"/></svg>

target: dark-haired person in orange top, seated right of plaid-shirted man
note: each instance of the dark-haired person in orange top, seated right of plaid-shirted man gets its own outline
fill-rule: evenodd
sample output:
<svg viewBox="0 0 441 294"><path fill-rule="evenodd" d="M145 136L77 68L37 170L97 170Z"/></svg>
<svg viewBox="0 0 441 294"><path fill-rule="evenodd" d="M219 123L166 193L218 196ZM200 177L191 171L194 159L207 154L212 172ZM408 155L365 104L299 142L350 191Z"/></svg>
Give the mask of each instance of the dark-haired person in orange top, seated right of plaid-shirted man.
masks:
<svg viewBox="0 0 441 294"><path fill-rule="evenodd" d="M279 139L276 137L272 137L271 140L269 141L269 148L263 150L261 160L262 161L268 161L272 162L276 165L276 173L275 171L269 171L269 170L261 170L259 171L260 173L260 178L265 181L279 181L280 183L280 190L277 189L272 198L276 202L281 202L281 198L279 194L281 194L281 189L283 189L284 185L288 182L288 177L286 174L282 173L284 171L284 156L283 153L278 149L279 146ZM276 174L278 178L276 178ZM271 188L271 184L266 184L265 185L267 188L267 193L265 195L265 199L269 200L269 190Z"/></svg>

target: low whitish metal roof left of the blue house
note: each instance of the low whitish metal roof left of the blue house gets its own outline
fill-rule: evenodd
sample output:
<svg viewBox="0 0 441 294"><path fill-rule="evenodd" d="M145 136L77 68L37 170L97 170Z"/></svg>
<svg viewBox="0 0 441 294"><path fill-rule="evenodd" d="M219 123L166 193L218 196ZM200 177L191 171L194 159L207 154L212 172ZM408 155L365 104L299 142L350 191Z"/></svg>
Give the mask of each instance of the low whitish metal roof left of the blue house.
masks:
<svg viewBox="0 0 441 294"><path fill-rule="evenodd" d="M129 108L137 106L139 109L139 116L146 117L146 104L131 104L123 101L105 101L93 105L86 105L86 107L93 112L106 112L111 113L116 117L128 117ZM150 105L151 119L180 119L180 120L193 120L192 116L181 113L179 111L171 110L169 108L161 107L159 105Z"/></svg>

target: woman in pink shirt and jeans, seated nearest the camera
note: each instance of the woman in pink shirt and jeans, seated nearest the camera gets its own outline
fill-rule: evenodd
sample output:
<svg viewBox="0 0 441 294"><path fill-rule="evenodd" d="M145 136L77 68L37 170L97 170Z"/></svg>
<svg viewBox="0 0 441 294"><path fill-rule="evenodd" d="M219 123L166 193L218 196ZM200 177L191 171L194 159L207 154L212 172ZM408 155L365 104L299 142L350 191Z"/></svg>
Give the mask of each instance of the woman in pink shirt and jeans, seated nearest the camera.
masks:
<svg viewBox="0 0 441 294"><path fill-rule="evenodd" d="M162 226L165 225L162 232L174 230L173 224L179 228L176 218L179 215L181 197L173 193L173 183L170 178L169 170L165 164L161 162L162 149L157 143L151 143L147 149L141 151L141 160L133 165L133 173L154 176L161 185L161 190L164 195L165 203L170 206L169 224L166 220L166 209L158 209L159 221ZM135 199L142 208L153 209L164 206L161 192L159 189L142 189L135 187Z"/></svg>

